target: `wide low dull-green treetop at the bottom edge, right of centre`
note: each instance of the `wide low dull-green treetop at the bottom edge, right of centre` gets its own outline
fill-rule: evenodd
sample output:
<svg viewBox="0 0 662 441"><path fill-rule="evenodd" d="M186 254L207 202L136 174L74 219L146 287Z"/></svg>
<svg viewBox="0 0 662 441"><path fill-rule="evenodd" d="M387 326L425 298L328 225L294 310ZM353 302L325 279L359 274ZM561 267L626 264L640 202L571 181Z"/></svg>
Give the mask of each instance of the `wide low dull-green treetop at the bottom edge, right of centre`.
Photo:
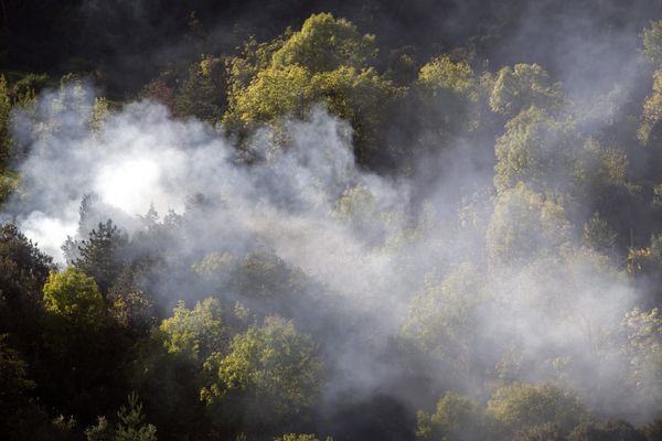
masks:
<svg viewBox="0 0 662 441"><path fill-rule="evenodd" d="M545 423L554 423L562 433L567 433L581 422L586 410L570 390L515 383L494 391L485 413L508 433Z"/></svg>

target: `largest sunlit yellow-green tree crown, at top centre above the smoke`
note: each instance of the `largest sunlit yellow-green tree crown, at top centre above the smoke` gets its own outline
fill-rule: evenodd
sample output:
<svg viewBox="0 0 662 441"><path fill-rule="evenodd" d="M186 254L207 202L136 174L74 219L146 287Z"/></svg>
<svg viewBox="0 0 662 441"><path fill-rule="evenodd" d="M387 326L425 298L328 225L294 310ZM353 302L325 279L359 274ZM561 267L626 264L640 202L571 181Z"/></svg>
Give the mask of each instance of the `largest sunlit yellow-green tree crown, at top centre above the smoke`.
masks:
<svg viewBox="0 0 662 441"><path fill-rule="evenodd" d="M248 136L269 123L282 128L285 118L306 119L323 104L354 129L361 163L375 157L389 106L403 90L380 75L371 63L374 37L331 14L311 15L300 31L266 44L249 42L244 56L228 64L227 129Z"/></svg>

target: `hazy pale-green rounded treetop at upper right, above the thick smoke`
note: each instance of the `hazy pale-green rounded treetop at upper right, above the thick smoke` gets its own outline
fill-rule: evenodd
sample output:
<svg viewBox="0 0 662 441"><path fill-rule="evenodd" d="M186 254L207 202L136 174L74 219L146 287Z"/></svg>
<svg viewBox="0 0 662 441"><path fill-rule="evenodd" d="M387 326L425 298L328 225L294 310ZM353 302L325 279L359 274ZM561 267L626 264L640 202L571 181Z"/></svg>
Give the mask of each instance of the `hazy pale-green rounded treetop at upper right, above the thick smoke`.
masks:
<svg viewBox="0 0 662 441"><path fill-rule="evenodd" d="M554 111L563 104L560 84L549 83L547 73L537 64L515 64L499 71L490 96L490 107L506 118L534 106Z"/></svg>

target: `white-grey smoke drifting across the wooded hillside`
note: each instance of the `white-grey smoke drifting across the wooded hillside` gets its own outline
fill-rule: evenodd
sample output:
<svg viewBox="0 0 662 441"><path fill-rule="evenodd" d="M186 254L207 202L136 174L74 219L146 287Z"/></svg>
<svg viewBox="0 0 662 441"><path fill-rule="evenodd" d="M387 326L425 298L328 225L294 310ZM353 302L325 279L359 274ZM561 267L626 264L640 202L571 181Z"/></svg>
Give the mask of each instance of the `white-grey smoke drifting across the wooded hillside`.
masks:
<svg viewBox="0 0 662 441"><path fill-rule="evenodd" d="M526 53L526 42L542 39L532 32L549 30L541 11L524 14L528 24L509 37L509 51ZM583 129L598 131L616 110L581 97L611 94L616 107L628 99L615 85L636 87L636 34L626 26L595 43L583 36L596 34L594 21L564 17L548 36L558 42L552 64L569 96L595 107ZM598 82L587 66L601 73ZM637 293L609 257L581 247L581 226L573 228L552 197L494 194L493 158L484 155L493 140L455 140L421 158L415 175L389 178L356 165L351 127L322 107L261 129L241 150L222 128L174 119L150 101L95 126L94 96L68 86L14 115L26 159L2 218L66 265L66 238L85 239L99 222L111 218L136 239L150 207L163 225L169 213L181 216L181 234L160 244L168 268L152 282L163 310L211 293L193 280L201 271L178 278L182 266L267 250L303 275L301 297L278 308L320 344L328 368L320 411L330 418L348 397L384 394L418 409L448 388L484 396L490 381L509 380L559 381L608 416L654 415L631 390L623 349L621 321ZM82 223L88 194L95 209ZM509 251L517 246L524 250ZM218 295L242 300L241 283L231 271ZM261 313L270 306L250 303ZM420 385L414 376L429 389L409 388Z"/></svg>

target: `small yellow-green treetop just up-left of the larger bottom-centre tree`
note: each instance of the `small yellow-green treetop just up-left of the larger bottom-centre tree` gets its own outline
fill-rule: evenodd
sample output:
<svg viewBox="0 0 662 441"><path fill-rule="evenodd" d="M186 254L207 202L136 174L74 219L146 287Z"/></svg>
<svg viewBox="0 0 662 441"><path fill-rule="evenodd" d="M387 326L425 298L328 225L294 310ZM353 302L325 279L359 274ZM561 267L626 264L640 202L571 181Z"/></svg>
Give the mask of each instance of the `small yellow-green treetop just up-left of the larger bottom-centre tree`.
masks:
<svg viewBox="0 0 662 441"><path fill-rule="evenodd" d="M207 298L197 302L193 310L180 301L170 319L163 320L161 331L169 353L181 354L193 361L202 361L212 353L226 351L227 336L222 321L221 302Z"/></svg>

